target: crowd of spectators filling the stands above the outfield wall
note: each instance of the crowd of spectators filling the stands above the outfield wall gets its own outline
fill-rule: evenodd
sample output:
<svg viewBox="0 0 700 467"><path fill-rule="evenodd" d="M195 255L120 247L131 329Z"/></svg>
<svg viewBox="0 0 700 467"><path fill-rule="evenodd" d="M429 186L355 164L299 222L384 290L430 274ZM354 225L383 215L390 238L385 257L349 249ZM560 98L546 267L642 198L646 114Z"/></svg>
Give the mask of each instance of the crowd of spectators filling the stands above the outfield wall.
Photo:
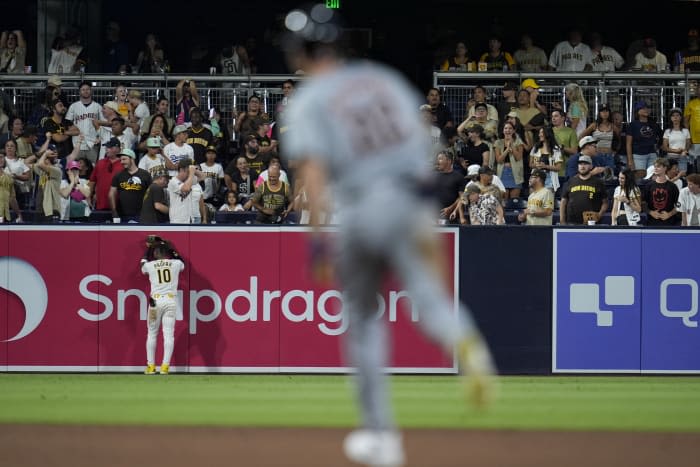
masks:
<svg viewBox="0 0 700 467"><path fill-rule="evenodd" d="M158 73L168 67L153 34L136 66L123 50L119 26L110 23L107 51L114 73ZM698 31L671 60L652 38L630 44L626 58L603 44L600 34L582 42L579 31L547 55L522 36L512 55L499 37L472 58L466 43L441 60L442 71L616 71L658 73L700 70ZM164 95L148 102L138 89L117 86L98 103L91 82L80 83L68 101L62 73L89 68L78 31L54 42L53 74L32 112L14 112L0 102L0 218L17 222L304 223L303 183L284 161L279 144L284 106L296 83L282 84L284 99L272 115L261 96L243 109L222 114L206 108L197 83L181 80L175 102ZM0 70L24 70L21 31L0 38ZM106 63L106 62L105 62ZM105 65L107 66L107 65ZM216 56L217 72L255 72L242 45ZM301 71L301 70L300 70ZM624 122L615 102L591 115L577 82L566 84L561 102L543 102L540 84L527 78L506 82L498 94L473 88L466 118L454 121L441 91L431 88L420 110L434 151L431 194L441 224L699 225L700 96L674 108L661 128L650 104L637 100ZM692 88L696 94L698 88ZM494 96L496 96L494 98ZM240 106L239 106L240 107ZM274 120L271 118L274 117ZM328 221L332 222L332 203Z"/></svg>

